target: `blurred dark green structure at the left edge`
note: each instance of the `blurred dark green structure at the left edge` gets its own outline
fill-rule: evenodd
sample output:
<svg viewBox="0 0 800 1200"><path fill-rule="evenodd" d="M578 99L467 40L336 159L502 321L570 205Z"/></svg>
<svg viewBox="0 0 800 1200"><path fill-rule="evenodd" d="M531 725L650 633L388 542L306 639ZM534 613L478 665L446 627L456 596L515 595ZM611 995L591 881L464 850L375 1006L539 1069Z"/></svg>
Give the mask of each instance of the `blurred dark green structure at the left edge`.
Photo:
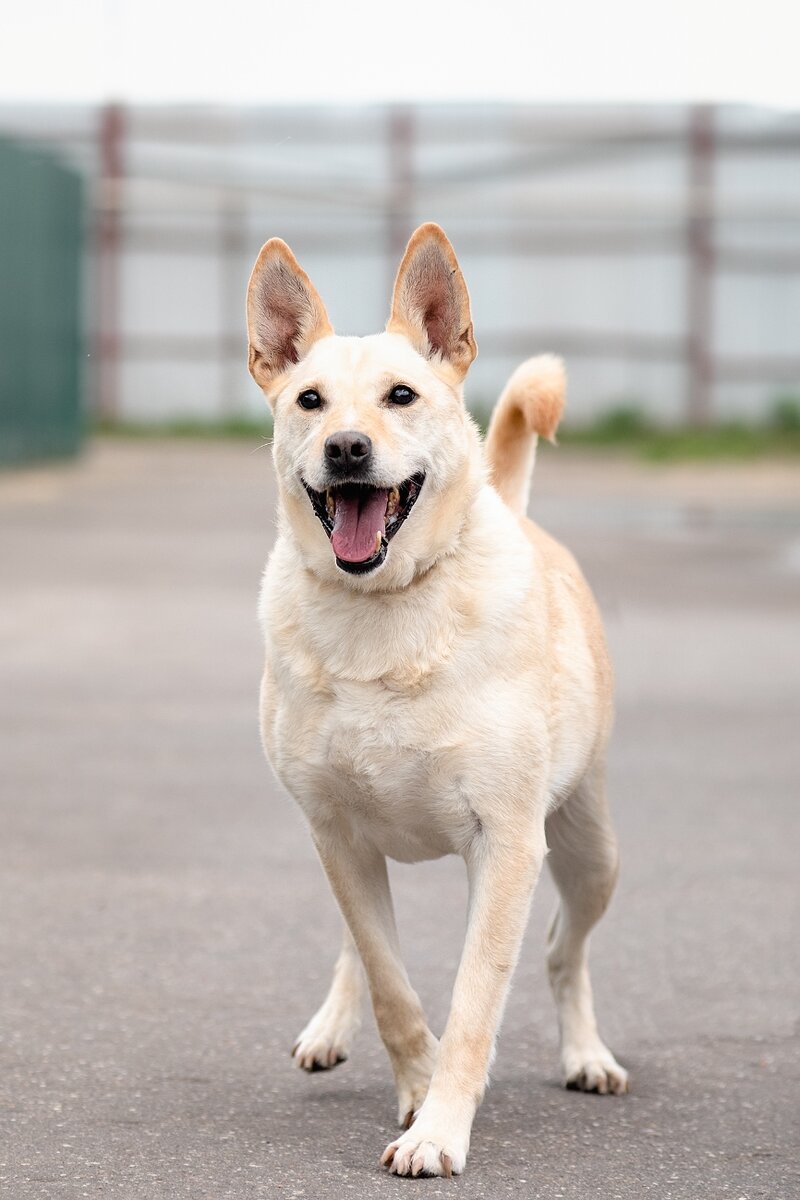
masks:
<svg viewBox="0 0 800 1200"><path fill-rule="evenodd" d="M80 176L0 139L0 463L80 443L82 245Z"/></svg>

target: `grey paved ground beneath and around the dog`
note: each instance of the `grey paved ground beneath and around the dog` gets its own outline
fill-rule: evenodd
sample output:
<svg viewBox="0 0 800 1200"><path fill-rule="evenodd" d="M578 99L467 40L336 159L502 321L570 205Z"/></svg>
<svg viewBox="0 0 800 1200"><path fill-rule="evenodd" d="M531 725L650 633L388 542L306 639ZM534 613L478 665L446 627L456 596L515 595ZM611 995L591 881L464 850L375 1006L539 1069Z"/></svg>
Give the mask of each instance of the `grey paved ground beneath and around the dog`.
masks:
<svg viewBox="0 0 800 1200"><path fill-rule="evenodd" d="M104 444L0 480L0 1180L11 1200L800 1195L800 470L546 452L619 676L622 876L594 943L625 1099L561 1091L531 929L467 1174L385 1176L367 1020L306 1076L337 918L261 761L269 457ZM440 1028L457 863L396 871ZM414 931L411 936L411 930Z"/></svg>

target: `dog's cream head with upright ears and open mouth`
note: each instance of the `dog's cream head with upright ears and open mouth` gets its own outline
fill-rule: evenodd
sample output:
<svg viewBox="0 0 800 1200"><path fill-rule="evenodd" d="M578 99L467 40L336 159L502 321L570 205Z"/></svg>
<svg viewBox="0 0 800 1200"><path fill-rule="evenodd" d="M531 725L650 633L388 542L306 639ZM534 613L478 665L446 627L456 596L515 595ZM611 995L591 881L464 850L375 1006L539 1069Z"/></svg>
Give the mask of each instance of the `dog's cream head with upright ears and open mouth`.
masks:
<svg viewBox="0 0 800 1200"><path fill-rule="evenodd" d="M305 564L362 588L408 584L456 542L482 478L462 395L477 348L452 246L438 226L417 229L386 332L337 337L275 238L253 268L247 324L282 517Z"/></svg>

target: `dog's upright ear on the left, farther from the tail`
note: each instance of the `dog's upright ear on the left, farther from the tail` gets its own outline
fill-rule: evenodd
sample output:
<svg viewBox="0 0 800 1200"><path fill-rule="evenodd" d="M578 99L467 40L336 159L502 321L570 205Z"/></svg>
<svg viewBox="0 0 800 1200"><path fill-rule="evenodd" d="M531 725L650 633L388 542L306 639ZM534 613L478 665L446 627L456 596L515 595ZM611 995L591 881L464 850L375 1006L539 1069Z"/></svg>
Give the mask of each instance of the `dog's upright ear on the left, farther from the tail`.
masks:
<svg viewBox="0 0 800 1200"><path fill-rule="evenodd" d="M333 332L317 288L279 238L261 247L247 286L249 373L264 391Z"/></svg>

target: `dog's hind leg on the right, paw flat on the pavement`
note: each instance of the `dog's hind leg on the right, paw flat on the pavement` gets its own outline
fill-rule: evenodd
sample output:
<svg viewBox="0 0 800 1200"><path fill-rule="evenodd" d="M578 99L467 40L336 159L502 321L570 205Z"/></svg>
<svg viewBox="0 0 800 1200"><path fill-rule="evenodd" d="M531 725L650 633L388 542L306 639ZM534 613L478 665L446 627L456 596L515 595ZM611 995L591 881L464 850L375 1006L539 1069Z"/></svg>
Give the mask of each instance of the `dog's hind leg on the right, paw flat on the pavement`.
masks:
<svg viewBox="0 0 800 1200"><path fill-rule="evenodd" d="M547 966L558 1008L564 1082L584 1092L620 1094L627 1091L627 1073L597 1032L587 961L589 932L608 907L618 874L602 763L551 814L546 832L547 862L560 894Z"/></svg>

